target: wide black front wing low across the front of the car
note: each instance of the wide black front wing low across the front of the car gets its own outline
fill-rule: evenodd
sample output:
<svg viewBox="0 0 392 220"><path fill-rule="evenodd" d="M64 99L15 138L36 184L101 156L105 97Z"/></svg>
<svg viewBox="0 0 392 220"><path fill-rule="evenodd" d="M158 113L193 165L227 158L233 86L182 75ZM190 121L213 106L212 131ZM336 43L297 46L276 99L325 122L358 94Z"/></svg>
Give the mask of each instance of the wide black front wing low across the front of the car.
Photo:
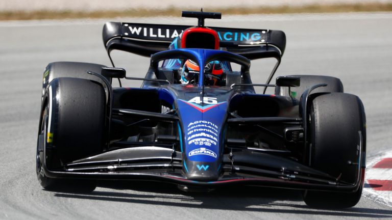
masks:
<svg viewBox="0 0 392 220"><path fill-rule="evenodd" d="M343 183L284 157L252 151L233 154L234 157L229 154L223 156L222 175L215 181L186 179L182 169L182 153L155 146L116 149L73 161L56 170L48 169L45 161L43 170L45 176L50 178L150 180L207 188L242 184L347 192L356 191L364 175L364 169L360 166L361 155L358 157L356 181Z"/></svg>

